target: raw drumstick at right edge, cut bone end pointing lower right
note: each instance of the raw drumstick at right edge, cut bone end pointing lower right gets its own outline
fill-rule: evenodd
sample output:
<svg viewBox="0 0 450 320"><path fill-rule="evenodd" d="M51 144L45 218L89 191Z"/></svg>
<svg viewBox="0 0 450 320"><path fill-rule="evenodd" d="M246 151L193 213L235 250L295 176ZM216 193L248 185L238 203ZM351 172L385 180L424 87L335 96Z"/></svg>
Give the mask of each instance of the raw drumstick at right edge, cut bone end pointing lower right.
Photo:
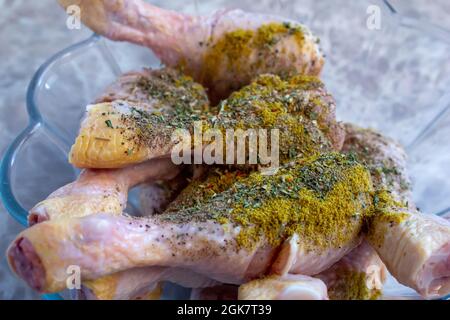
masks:
<svg viewBox="0 0 450 320"><path fill-rule="evenodd" d="M354 152L372 173L377 213L367 239L402 284L425 298L450 293L450 223L414 206L400 145L380 134L346 125L344 151ZM388 191L389 190L389 191Z"/></svg>

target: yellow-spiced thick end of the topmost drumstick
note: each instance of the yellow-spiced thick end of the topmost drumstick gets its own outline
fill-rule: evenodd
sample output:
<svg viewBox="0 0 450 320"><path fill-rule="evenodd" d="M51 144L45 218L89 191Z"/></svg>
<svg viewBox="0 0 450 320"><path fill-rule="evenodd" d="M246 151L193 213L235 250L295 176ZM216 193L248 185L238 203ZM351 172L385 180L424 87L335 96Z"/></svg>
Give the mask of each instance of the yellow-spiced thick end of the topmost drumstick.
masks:
<svg viewBox="0 0 450 320"><path fill-rule="evenodd" d="M323 57L317 51L316 40L305 37L305 31L301 25L272 22L256 30L236 29L211 37L201 44L206 50L199 82L213 84L219 97L224 98L263 73L317 75ZM194 73L188 65L183 67ZM224 81L224 74L228 81Z"/></svg>

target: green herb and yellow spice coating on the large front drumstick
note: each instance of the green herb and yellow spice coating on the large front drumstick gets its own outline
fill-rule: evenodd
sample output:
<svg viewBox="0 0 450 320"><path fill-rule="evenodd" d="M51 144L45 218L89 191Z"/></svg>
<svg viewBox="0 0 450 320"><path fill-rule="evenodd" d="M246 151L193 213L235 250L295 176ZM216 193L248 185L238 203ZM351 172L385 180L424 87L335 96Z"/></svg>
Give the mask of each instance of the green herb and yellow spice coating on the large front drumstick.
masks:
<svg viewBox="0 0 450 320"><path fill-rule="evenodd" d="M239 178L217 185L223 175ZM238 247L261 239L277 246L296 233L311 248L337 248L357 237L374 212L369 171L339 153L298 160L273 176L217 169L201 184L188 186L161 218L234 224Z"/></svg>

